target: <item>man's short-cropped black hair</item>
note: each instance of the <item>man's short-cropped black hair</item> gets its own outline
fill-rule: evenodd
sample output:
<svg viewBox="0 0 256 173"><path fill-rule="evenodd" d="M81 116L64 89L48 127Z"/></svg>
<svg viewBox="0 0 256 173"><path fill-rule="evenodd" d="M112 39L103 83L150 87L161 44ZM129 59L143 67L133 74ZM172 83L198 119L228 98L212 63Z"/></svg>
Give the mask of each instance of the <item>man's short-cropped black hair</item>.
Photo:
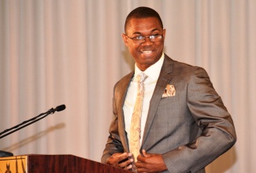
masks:
<svg viewBox="0 0 256 173"><path fill-rule="evenodd" d="M161 21L161 17L159 16L158 12L156 12L154 9L150 9L149 7L146 6L140 6L136 9L133 9L131 13L128 14L125 20L124 24L124 31L126 32L128 22L132 18L136 19L143 19L147 17L156 17L159 21L159 24L161 25L161 28L164 28L163 23Z"/></svg>

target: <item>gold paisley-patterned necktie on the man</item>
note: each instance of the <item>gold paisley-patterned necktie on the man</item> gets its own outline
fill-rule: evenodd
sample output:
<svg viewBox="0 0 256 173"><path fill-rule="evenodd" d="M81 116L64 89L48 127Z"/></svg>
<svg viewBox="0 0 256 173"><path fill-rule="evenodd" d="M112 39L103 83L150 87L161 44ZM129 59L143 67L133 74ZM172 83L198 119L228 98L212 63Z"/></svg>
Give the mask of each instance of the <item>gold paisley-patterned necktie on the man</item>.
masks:
<svg viewBox="0 0 256 173"><path fill-rule="evenodd" d="M138 83L137 97L135 101L135 106L132 112L132 122L130 128L130 150L133 153L135 162L137 162L137 156L139 156L140 148L140 122L141 122L141 113L143 110L143 98L144 98L144 80L147 78L145 73L140 73L137 75L136 80Z"/></svg>

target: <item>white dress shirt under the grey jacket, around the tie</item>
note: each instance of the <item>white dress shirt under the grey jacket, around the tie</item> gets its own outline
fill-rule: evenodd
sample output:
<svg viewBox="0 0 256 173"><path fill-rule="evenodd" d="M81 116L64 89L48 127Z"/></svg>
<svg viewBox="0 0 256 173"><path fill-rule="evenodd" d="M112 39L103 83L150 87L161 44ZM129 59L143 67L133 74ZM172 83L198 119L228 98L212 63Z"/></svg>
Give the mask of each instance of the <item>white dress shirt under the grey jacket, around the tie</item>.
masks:
<svg viewBox="0 0 256 173"><path fill-rule="evenodd" d="M147 121L147 112L150 107L150 100L152 98L154 88L157 84L158 77L161 71L161 66L164 63L164 53L162 53L161 58L155 64L151 65L147 68L144 73L147 75L147 79L144 81L145 91L144 91L144 99L143 99L143 112L141 115L141 138L140 144L143 139L144 127ZM128 142L130 140L130 126L132 121L132 112L135 106L135 100L137 96L137 82L136 76L139 75L142 71L135 64L135 74L132 78L130 85L128 86L128 91L124 100L124 123L125 123L125 131L127 133Z"/></svg>

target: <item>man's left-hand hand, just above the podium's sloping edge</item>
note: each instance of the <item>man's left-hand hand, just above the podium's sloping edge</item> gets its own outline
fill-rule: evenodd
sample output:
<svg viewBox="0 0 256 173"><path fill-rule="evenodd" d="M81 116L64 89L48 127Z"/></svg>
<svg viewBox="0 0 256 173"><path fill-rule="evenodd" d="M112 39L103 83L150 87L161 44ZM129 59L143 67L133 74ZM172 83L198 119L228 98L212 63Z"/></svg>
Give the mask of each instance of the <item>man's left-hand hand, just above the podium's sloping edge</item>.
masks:
<svg viewBox="0 0 256 173"><path fill-rule="evenodd" d="M121 167L124 170L129 170L132 168L133 159L132 153L114 153L106 160L106 164L113 167Z"/></svg>

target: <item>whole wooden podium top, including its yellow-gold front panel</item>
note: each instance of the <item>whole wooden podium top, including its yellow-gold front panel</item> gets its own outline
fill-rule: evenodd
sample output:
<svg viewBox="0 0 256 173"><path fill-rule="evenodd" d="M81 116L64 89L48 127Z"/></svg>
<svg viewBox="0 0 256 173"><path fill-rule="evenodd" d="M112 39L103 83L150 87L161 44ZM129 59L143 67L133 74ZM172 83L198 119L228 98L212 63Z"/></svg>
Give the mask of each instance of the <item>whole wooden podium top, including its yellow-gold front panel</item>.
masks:
<svg viewBox="0 0 256 173"><path fill-rule="evenodd" d="M0 172L12 173L131 173L73 155L24 155L0 157Z"/></svg>

